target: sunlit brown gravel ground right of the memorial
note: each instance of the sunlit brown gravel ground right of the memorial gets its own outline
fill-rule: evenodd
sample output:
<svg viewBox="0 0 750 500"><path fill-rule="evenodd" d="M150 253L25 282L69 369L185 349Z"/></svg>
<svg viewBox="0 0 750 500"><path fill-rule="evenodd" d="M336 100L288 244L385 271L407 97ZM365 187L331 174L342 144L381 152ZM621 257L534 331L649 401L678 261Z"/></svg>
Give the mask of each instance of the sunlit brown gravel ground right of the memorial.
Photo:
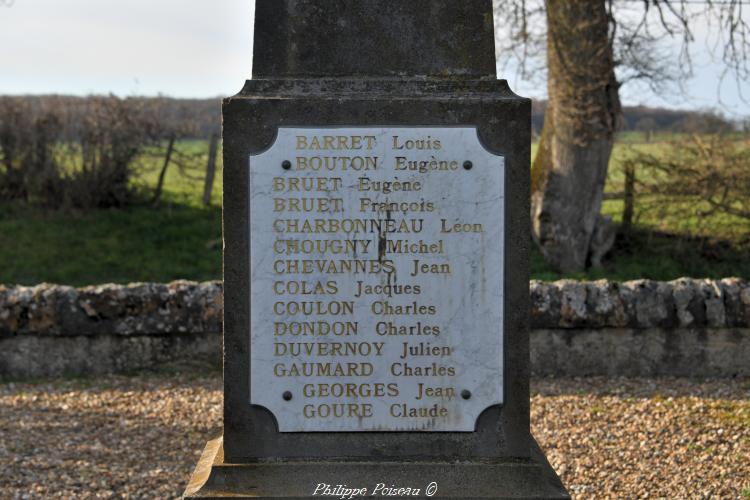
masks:
<svg viewBox="0 0 750 500"><path fill-rule="evenodd" d="M750 380L532 383L533 433L577 498L750 498Z"/></svg>

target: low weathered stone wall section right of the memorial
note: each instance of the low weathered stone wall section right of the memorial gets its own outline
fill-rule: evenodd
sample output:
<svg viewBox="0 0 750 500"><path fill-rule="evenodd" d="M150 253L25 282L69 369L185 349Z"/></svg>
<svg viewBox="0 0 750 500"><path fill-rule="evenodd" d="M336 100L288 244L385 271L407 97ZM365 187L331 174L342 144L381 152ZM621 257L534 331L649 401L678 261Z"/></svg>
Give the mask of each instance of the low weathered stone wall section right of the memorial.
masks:
<svg viewBox="0 0 750 500"><path fill-rule="evenodd" d="M750 285L531 283L537 375L750 376Z"/></svg>

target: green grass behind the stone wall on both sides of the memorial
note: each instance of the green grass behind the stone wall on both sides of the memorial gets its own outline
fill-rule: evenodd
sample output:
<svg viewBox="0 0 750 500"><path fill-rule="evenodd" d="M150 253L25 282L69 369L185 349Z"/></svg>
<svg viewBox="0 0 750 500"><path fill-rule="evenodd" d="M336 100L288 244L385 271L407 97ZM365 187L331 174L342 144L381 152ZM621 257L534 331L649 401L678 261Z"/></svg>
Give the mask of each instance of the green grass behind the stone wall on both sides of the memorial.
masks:
<svg viewBox="0 0 750 500"><path fill-rule="evenodd" d="M662 140L663 139L663 140ZM662 148L667 138L652 143L625 136L610 166L607 190L622 190L619 162L631 148ZM206 151L200 141L178 145L183 153ZM657 149L658 150L658 149ZM47 211L0 203L0 283L33 285L54 282L88 285L106 282L209 280L221 278L221 163L210 207L201 201L205 158L181 172L168 171L158 208L148 203L123 210ZM156 185L161 160L143 161L134 181L142 192ZM187 175L186 175L187 174ZM638 203L648 200L637 199ZM686 200L685 203L691 203ZM607 200L603 212L621 220L623 202ZM706 220L664 217L647 210L600 269L562 276L554 273L534 250L532 277L614 280L669 280L681 276L750 279L750 222L714 216Z"/></svg>

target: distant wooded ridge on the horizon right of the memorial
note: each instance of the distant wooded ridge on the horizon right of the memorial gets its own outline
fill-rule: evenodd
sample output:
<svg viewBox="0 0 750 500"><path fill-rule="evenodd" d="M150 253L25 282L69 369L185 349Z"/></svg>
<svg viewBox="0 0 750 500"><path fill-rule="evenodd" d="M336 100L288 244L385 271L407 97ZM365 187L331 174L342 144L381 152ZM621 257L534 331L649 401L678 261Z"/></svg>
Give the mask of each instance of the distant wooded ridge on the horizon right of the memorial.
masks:
<svg viewBox="0 0 750 500"><path fill-rule="evenodd" d="M534 101L531 123L535 134L542 131L546 101ZM682 111L646 106L624 106L622 131L719 133L741 128L740 124L726 119L711 110Z"/></svg>

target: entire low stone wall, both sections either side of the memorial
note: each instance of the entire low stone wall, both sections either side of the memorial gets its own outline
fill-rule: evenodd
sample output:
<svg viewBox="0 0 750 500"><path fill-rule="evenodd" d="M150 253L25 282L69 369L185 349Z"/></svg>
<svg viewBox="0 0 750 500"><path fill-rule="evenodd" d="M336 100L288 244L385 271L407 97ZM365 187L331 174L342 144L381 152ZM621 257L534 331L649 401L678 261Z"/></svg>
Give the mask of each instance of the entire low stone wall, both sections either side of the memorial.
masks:
<svg viewBox="0 0 750 500"><path fill-rule="evenodd" d="M532 281L537 375L750 376L750 285ZM0 377L221 357L220 282L0 286Z"/></svg>

